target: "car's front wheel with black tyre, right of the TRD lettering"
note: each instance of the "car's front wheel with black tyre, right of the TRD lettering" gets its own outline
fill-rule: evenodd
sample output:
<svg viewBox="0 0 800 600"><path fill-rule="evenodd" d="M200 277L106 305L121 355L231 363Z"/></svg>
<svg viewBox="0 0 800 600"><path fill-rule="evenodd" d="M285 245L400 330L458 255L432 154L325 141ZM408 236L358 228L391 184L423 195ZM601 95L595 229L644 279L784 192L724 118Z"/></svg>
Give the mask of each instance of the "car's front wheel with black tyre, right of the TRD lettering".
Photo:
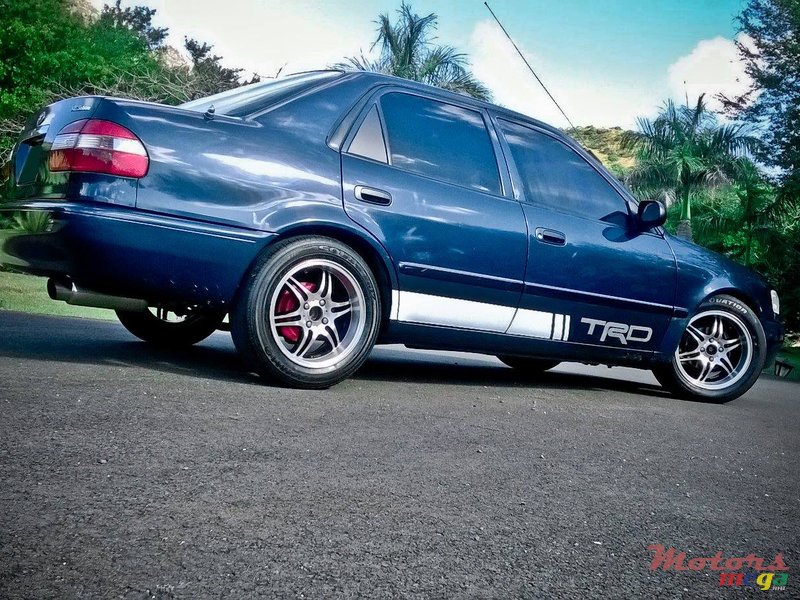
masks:
<svg viewBox="0 0 800 600"><path fill-rule="evenodd" d="M749 390L765 360L766 337L758 316L736 298L719 295L700 305L672 360L653 374L679 397L722 403Z"/></svg>

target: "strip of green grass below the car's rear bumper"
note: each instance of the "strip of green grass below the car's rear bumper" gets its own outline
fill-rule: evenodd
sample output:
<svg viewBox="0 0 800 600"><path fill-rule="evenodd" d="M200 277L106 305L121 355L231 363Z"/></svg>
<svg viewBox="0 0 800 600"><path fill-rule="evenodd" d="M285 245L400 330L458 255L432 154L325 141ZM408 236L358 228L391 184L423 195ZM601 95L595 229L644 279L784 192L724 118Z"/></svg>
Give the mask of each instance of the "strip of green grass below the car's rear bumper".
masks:
<svg viewBox="0 0 800 600"><path fill-rule="evenodd" d="M51 300L46 284L47 280L43 277L0 270L0 310L88 319L117 318L113 310L71 306L66 302Z"/></svg>

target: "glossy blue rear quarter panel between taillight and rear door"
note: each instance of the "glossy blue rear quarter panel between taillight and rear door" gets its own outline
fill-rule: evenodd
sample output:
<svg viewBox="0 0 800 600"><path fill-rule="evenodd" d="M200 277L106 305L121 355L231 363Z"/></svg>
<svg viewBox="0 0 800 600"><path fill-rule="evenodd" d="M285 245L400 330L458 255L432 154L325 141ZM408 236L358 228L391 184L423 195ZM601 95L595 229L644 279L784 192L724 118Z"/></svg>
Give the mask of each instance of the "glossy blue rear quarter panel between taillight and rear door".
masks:
<svg viewBox="0 0 800 600"><path fill-rule="evenodd" d="M331 208L341 212L339 154L325 141L357 95L337 82L253 119L125 100L95 116L129 127L147 148L137 208L278 231Z"/></svg>

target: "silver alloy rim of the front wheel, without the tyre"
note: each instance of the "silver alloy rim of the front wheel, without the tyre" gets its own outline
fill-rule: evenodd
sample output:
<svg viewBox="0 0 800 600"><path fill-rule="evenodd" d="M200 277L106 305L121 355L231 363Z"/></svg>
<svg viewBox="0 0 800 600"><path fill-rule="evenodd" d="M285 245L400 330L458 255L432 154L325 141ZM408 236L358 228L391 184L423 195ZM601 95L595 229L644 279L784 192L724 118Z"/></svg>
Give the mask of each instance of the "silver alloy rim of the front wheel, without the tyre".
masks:
<svg viewBox="0 0 800 600"><path fill-rule="evenodd" d="M675 364L691 385L722 390L744 377L753 355L753 336L739 317L706 310L686 327L675 351Z"/></svg>

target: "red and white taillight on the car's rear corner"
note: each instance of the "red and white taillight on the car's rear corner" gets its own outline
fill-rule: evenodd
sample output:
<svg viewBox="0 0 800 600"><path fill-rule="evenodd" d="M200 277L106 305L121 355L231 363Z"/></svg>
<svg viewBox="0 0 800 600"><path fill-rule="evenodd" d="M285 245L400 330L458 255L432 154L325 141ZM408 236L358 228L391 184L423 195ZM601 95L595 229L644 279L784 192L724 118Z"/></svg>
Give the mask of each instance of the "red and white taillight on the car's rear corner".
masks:
<svg viewBox="0 0 800 600"><path fill-rule="evenodd" d="M51 171L144 177L149 162L144 144L132 131L99 119L70 123L50 148Z"/></svg>

